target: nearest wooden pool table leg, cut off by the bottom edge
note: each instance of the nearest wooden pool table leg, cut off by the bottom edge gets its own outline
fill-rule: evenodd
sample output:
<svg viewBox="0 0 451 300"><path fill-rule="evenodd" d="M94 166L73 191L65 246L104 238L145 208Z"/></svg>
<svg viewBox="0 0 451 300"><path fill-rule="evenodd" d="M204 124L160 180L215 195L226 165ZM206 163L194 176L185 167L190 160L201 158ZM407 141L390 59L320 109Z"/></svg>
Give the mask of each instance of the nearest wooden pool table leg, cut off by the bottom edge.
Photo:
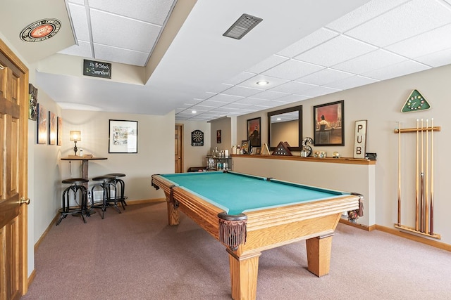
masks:
<svg viewBox="0 0 451 300"><path fill-rule="evenodd" d="M229 250L227 252L229 253L232 299L257 299L257 275L261 252L240 257Z"/></svg>

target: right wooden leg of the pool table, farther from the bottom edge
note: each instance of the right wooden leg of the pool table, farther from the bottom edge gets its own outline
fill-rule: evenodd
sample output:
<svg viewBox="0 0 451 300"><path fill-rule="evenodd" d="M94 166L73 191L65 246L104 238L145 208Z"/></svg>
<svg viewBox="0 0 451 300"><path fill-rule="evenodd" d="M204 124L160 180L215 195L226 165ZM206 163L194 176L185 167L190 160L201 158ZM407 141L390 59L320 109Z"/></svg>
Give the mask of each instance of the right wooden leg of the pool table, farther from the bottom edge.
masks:
<svg viewBox="0 0 451 300"><path fill-rule="evenodd" d="M333 233L305 241L307 244L308 270L318 277L329 273L332 237Z"/></svg>

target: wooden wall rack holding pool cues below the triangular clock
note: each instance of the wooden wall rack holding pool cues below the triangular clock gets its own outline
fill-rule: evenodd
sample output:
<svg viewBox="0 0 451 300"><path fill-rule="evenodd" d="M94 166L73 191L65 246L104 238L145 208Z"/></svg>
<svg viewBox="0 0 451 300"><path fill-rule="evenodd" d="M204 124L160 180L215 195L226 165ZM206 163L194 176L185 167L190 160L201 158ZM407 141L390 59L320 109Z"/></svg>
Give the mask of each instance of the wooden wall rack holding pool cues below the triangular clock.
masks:
<svg viewBox="0 0 451 300"><path fill-rule="evenodd" d="M397 205L397 223L395 228L405 230L407 233L415 233L418 235L424 235L426 237L433 237L441 239L442 237L438 233L433 232L433 132L441 131L440 126L433 126L433 119L431 119L431 126L428 126L428 120L426 120L426 127L424 126L424 119L421 119L421 126L419 119L416 119L416 128L401 128L395 129L394 133L399 134L399 162L398 162L398 205ZM416 200L415 200L415 228L404 226L401 224L401 135L400 133L416 133ZM426 139L424 133L426 132ZM429 155L428 145L428 133L431 132L431 155ZM420 142L421 141L421 142ZM426 154L424 153L424 142L426 141ZM421 147L421 148L420 148ZM421 153L420 153L421 152ZM426 190L424 185L424 159L426 159ZM420 172L421 161L421 172ZM429 183L429 166L428 162L431 162L431 182ZM421 185L420 185L421 178ZM429 191L428 189L431 188ZM430 194L429 194L430 193Z"/></svg>

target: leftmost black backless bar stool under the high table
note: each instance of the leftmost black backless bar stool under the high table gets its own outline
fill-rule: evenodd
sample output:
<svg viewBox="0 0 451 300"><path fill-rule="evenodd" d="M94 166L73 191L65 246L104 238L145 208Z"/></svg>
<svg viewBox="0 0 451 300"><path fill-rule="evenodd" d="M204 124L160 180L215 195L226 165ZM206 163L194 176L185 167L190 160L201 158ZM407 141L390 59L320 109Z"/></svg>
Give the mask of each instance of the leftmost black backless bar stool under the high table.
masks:
<svg viewBox="0 0 451 300"><path fill-rule="evenodd" d="M83 186L83 183L87 183L88 180L85 178L70 178L64 179L62 183L70 183L70 186L63 191L62 198L62 208L58 209L61 216L59 217L56 226L61 223L61 220L65 219L68 214L80 214L82 216L83 222L86 223L85 214L89 216L87 212L87 188ZM72 192L72 193L70 193ZM73 200L77 202L77 195L80 203L78 206L70 206L70 195L73 195Z"/></svg>

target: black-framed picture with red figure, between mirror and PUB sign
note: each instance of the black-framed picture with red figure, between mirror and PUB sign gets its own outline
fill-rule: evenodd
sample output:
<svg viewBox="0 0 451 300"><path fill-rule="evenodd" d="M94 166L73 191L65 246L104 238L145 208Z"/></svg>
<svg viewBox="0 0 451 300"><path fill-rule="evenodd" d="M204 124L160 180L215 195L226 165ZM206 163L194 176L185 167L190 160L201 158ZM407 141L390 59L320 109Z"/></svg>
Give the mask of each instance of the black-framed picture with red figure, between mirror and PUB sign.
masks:
<svg viewBox="0 0 451 300"><path fill-rule="evenodd" d="M345 101L315 105L314 115L314 145L344 146L345 131Z"/></svg>

